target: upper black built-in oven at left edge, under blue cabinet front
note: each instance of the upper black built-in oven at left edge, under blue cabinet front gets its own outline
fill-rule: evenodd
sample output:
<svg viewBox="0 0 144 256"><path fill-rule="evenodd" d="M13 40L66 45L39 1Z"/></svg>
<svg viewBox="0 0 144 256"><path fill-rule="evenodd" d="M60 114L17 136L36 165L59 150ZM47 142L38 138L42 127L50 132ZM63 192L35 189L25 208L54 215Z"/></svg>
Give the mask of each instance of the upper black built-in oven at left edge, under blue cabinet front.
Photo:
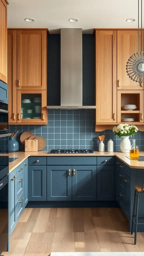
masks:
<svg viewBox="0 0 144 256"><path fill-rule="evenodd" d="M0 134L8 133L8 104L0 102Z"/></svg>

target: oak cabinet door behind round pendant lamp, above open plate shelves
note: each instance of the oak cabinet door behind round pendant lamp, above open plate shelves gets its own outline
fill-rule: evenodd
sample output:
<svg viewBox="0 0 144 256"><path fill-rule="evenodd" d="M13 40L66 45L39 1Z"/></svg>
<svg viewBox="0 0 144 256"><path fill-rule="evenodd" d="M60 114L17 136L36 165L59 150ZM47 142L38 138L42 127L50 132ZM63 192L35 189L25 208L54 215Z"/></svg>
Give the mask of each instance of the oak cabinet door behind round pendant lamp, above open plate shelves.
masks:
<svg viewBox="0 0 144 256"><path fill-rule="evenodd" d="M144 35L144 31L142 31L142 33ZM141 37L141 33L140 33L140 37ZM141 44L140 44L140 47L141 47ZM136 83L132 81L126 72L127 61L129 57L136 52L138 52L138 31L137 30L118 30L117 31L117 89L118 90L143 90L144 89L143 83Z"/></svg>

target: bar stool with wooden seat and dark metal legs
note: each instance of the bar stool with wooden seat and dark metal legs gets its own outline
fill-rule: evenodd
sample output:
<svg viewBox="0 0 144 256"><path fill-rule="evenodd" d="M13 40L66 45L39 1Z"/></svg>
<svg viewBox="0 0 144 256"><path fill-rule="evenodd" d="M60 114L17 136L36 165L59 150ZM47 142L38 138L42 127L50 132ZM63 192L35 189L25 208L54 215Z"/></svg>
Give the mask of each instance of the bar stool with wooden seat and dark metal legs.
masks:
<svg viewBox="0 0 144 256"><path fill-rule="evenodd" d="M133 223L135 223L135 240L134 244L137 243L137 227L138 224L144 224L144 223L138 223L138 220L143 220L143 218L138 218L138 209L139 209L139 194L144 192L144 180L142 186L135 186L135 198L133 203L133 214L132 214L132 226L131 226L131 234L133 234ZM135 205L136 205L136 215L135 215ZM134 220L135 218L135 220Z"/></svg>

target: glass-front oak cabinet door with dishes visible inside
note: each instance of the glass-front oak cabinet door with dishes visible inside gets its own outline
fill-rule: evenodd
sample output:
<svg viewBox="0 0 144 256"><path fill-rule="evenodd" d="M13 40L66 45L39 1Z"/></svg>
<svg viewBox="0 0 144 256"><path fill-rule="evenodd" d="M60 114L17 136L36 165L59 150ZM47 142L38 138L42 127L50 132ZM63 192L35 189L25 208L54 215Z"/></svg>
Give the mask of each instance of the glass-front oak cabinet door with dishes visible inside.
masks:
<svg viewBox="0 0 144 256"><path fill-rule="evenodd" d="M17 91L17 123L46 123L46 91Z"/></svg>

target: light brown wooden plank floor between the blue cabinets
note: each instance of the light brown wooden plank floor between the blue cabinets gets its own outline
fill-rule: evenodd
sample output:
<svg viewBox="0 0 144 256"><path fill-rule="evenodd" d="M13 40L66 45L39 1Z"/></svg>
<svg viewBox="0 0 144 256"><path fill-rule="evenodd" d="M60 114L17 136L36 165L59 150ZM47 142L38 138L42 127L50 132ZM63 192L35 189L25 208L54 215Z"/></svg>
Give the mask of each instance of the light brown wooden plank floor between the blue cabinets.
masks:
<svg viewBox="0 0 144 256"><path fill-rule="evenodd" d="M120 208L26 208L11 235L6 256L51 252L143 252L144 233L128 232Z"/></svg>

